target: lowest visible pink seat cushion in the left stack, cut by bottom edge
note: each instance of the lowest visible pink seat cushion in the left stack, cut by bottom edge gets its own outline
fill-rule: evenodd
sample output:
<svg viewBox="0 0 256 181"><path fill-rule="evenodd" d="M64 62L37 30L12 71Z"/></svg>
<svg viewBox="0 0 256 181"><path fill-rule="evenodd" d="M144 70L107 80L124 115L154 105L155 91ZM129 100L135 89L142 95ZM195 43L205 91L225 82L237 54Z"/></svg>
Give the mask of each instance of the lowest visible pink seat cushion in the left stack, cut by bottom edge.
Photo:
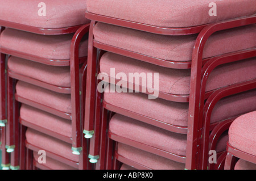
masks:
<svg viewBox="0 0 256 181"><path fill-rule="evenodd" d="M36 153L36 151L33 151L33 157L35 159L35 161L38 161L40 155L38 155L38 153ZM56 159L52 159L50 157L46 157L46 163L40 163L43 166L48 167L51 170L77 170L72 166L69 166L65 163L61 163L59 161L57 161Z"/></svg>

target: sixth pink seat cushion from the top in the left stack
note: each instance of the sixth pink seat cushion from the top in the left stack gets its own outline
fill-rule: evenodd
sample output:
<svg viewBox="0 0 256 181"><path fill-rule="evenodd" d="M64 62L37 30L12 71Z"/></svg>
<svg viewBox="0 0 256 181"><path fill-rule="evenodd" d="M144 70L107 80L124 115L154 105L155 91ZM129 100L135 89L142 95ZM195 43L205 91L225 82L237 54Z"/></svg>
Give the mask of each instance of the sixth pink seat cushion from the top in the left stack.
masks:
<svg viewBox="0 0 256 181"><path fill-rule="evenodd" d="M79 162L79 155L72 154L72 144L68 144L67 142L58 140L31 128L28 128L26 131L26 140L29 144L37 146L40 149Z"/></svg>

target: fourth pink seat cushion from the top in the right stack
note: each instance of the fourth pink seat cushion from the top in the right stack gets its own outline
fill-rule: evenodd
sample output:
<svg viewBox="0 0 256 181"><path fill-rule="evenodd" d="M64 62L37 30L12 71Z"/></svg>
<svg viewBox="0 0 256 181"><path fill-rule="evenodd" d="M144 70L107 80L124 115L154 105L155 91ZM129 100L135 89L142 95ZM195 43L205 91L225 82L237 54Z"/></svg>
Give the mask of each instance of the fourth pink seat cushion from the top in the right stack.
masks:
<svg viewBox="0 0 256 181"><path fill-rule="evenodd" d="M110 86L111 87L111 86ZM188 103L171 102L164 99L148 99L141 92L104 92L106 103L139 113L171 125L188 125ZM256 110L256 90L229 96L218 101L213 109L211 123Z"/></svg>

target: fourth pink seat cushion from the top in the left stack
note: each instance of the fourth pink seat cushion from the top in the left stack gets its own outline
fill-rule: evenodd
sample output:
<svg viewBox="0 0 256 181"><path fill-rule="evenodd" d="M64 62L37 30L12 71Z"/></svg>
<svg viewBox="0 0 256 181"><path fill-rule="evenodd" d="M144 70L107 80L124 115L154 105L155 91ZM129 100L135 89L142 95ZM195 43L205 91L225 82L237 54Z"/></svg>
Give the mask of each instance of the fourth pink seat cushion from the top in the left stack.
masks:
<svg viewBox="0 0 256 181"><path fill-rule="evenodd" d="M16 95L65 113L71 113L71 95L60 94L42 87L18 81Z"/></svg>

